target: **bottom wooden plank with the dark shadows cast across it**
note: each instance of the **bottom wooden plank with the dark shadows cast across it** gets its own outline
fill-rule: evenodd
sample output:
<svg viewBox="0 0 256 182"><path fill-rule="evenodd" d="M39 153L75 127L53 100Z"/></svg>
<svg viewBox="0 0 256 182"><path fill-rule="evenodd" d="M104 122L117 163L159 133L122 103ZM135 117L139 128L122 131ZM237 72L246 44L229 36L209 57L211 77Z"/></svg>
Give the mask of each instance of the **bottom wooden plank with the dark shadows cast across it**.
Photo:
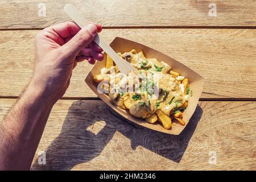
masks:
<svg viewBox="0 0 256 182"><path fill-rule="evenodd" d="M0 121L14 102L0 100ZM102 101L60 100L31 169L254 170L255 111L255 102L199 102L174 136L122 121ZM46 165L38 164L40 151ZM216 164L209 164L214 152Z"/></svg>

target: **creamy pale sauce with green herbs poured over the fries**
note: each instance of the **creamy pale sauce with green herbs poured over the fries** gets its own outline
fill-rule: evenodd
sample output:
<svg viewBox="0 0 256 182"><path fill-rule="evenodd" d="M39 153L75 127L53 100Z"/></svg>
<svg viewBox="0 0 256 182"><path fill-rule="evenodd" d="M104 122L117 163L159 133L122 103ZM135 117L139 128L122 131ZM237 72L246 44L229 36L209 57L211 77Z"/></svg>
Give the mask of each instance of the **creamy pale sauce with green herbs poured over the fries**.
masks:
<svg viewBox="0 0 256 182"><path fill-rule="evenodd" d="M110 82L110 84L114 84L115 92L109 93L109 97L121 109L127 109L123 103L129 97L131 101L130 113L135 117L147 118L158 109L162 110L164 114L170 115L175 108L182 107L188 101L187 90L184 90L184 85L181 84L184 77L172 77L170 74L171 67L164 63L164 61L159 63L157 59L147 59L142 52L136 53L134 49L123 54L118 53L118 55L138 69L138 71L134 71L127 78L119 77L117 67L103 68L101 70L101 75L104 77L110 77L115 73L115 82ZM120 89L122 88L121 85L126 84L129 80L133 80L133 74L157 75L159 78L158 97L154 97L155 94L148 94L148 90L140 90L138 93L129 93L127 90L122 92ZM142 84L142 82L138 84ZM135 86L138 85L134 84Z"/></svg>

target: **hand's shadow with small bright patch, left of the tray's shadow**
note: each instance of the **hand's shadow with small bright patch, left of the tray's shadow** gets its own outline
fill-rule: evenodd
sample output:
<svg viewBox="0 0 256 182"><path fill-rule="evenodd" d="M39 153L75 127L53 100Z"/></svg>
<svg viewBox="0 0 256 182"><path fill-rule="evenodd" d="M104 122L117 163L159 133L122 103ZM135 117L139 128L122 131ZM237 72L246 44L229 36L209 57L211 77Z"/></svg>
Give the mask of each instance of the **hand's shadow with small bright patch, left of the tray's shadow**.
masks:
<svg viewBox="0 0 256 182"><path fill-rule="evenodd" d="M99 111L104 114L99 114ZM115 128L109 123L110 117L112 114L101 101L73 102L61 133L46 150L46 164L35 163L32 169L70 170L76 164L88 162L100 155L115 133Z"/></svg>

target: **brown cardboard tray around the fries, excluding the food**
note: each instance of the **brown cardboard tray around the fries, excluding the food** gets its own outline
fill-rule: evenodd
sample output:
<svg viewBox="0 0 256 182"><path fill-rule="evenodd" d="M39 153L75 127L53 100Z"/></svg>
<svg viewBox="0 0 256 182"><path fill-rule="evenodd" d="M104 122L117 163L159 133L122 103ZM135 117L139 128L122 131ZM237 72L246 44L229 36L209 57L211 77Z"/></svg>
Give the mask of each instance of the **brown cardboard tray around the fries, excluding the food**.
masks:
<svg viewBox="0 0 256 182"><path fill-rule="evenodd" d="M106 56L104 56L105 58L103 61L97 61L97 63L94 65L92 71L90 71L89 75L85 78L86 84L89 85L93 92L96 93L102 101L104 101L106 104L112 107L113 110L115 110L118 114L122 115L122 117L128 119L129 121L147 127L148 129L173 135L179 135L181 131L187 126L189 119L192 117L194 111L196 110L197 103L199 102L199 98L203 90L204 78L192 69L186 67L184 64L179 63L179 61L176 61L171 57L164 55L159 51L156 51L155 49L143 46L142 44L133 42L131 40L117 37L113 40L110 46L114 49L115 52L121 53L129 52L131 51L131 49L135 49L137 52L143 51L145 57L156 58L158 59L158 61L164 61L167 64L171 65L171 69L173 71L178 72L181 76L185 76L189 79L189 86L191 88L190 90L192 90L193 92L193 95L191 97L191 94L189 93L188 107L183 113L183 120L186 123L185 126L182 126L177 122L173 122L172 128L170 130L166 130L163 128L160 122L156 122L156 124L151 124L146 122L144 119L133 117L133 115L129 113L129 110L123 110L115 106L108 95L98 93L97 83L93 81L93 76L101 73L101 68L106 66Z"/></svg>

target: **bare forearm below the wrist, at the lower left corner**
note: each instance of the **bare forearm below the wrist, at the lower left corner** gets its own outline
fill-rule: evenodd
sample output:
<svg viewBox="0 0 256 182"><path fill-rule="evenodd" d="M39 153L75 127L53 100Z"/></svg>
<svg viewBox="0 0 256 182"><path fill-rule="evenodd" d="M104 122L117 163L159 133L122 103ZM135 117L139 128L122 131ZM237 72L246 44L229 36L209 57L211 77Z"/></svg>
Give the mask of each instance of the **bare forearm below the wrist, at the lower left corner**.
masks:
<svg viewBox="0 0 256 182"><path fill-rule="evenodd" d="M30 169L53 104L28 86L0 126L0 169Z"/></svg>

